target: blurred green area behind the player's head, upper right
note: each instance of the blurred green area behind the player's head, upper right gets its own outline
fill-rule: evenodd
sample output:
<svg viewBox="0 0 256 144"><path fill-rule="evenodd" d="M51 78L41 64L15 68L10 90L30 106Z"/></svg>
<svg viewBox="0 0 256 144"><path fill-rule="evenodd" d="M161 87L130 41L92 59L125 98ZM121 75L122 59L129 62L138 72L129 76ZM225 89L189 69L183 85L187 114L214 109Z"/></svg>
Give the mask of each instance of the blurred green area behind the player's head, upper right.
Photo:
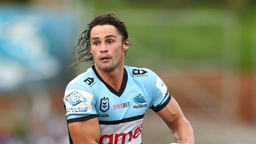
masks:
<svg viewBox="0 0 256 144"><path fill-rule="evenodd" d="M208 67L252 69L254 7L200 4L96 0L83 3L83 7L89 16L85 22L92 15L108 12L114 12L125 22L133 44L126 57L128 65L137 66L140 61L142 66L157 66L164 61L177 66L197 66L200 62Z"/></svg>

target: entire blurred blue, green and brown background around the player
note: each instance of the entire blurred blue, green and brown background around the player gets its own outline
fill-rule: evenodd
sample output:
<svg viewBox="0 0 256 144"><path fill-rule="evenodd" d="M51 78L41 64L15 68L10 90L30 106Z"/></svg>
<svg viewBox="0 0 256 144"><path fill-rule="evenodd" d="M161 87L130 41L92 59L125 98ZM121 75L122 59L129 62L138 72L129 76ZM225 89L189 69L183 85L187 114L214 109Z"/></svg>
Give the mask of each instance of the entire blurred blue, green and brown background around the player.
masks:
<svg viewBox="0 0 256 144"><path fill-rule="evenodd" d="M0 0L0 144L67 144L63 94L88 68L69 68L86 23L114 12L132 46L125 65L165 81L197 144L256 143L253 0ZM145 144L171 131L151 110Z"/></svg>

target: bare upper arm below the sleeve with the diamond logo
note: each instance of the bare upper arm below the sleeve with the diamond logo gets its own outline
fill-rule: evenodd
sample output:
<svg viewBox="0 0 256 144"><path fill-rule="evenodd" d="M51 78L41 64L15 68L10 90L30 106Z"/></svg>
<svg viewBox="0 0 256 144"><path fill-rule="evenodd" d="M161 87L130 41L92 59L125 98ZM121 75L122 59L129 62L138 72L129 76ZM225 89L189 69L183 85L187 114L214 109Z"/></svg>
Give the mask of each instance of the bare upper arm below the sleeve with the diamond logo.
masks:
<svg viewBox="0 0 256 144"><path fill-rule="evenodd" d="M100 139L98 118L69 123L69 131L74 144L98 144Z"/></svg>

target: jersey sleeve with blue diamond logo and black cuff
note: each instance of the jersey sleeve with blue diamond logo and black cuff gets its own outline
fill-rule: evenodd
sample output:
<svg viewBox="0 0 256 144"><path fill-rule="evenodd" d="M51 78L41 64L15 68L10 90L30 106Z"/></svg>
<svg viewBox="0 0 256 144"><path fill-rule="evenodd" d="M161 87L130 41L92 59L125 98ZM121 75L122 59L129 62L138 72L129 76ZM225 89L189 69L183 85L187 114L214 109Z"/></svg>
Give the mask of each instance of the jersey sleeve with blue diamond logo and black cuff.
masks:
<svg viewBox="0 0 256 144"><path fill-rule="evenodd" d="M63 102L68 124L98 117L95 96L82 85L69 85L65 90Z"/></svg>

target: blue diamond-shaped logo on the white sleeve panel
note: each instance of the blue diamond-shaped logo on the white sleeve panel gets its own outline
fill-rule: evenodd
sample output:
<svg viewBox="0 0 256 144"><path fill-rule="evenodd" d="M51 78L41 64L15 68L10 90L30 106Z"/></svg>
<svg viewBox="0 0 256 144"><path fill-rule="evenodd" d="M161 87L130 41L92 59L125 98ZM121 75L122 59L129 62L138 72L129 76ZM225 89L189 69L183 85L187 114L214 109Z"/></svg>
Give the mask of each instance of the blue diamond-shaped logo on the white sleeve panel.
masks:
<svg viewBox="0 0 256 144"><path fill-rule="evenodd" d="M67 102L69 102L71 105L76 106L81 102L86 102L87 99L83 97L81 94L79 94L76 91L73 91L71 94L69 94L66 98Z"/></svg>

